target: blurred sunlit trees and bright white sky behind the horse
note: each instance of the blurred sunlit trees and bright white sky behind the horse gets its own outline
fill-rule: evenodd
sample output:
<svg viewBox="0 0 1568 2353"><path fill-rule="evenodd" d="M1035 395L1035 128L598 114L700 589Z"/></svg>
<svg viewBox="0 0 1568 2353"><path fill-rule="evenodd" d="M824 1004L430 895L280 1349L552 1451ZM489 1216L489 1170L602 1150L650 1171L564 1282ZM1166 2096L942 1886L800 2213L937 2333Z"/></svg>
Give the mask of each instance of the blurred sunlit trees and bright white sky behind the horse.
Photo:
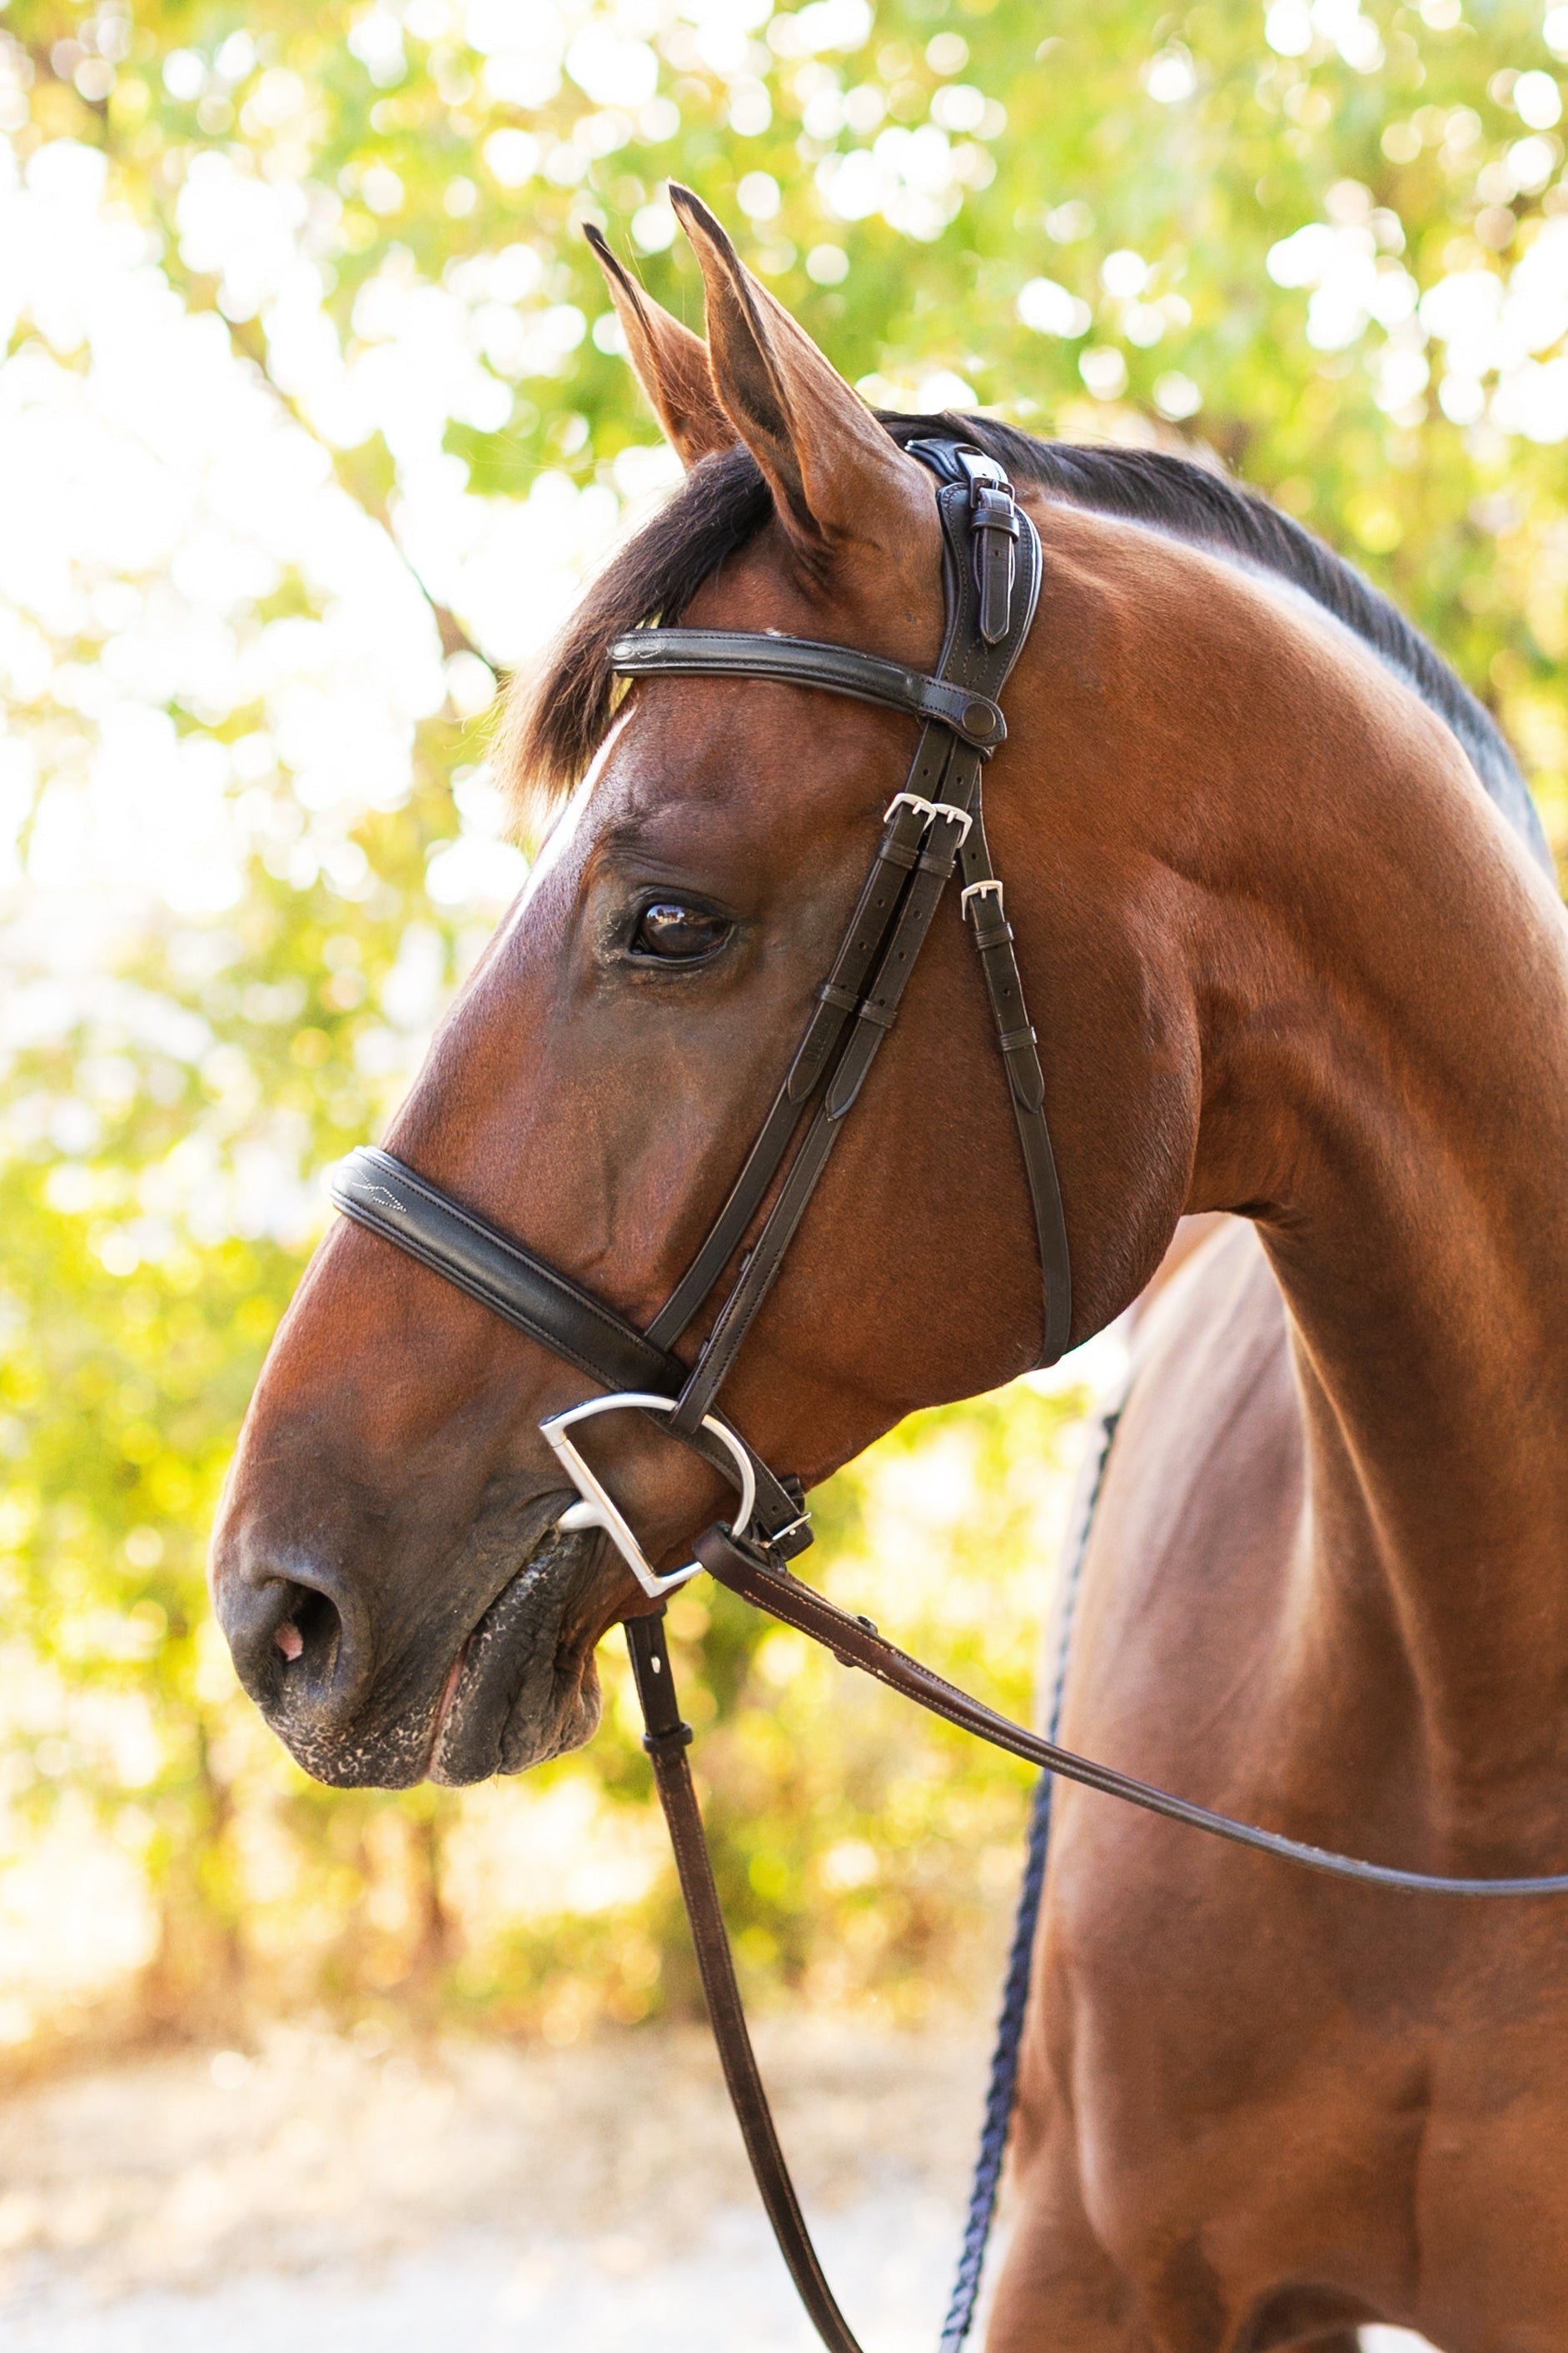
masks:
<svg viewBox="0 0 1568 2353"><path fill-rule="evenodd" d="M324 1172L524 873L496 682L675 478L581 224L698 322L679 176L870 400L1239 471L1434 635L1561 838L1563 59L1516 0L0 5L16 2064L693 2002L614 1659L583 1758L327 1793L202 1598ZM832 1591L1016 1711L1079 1369L820 1508ZM672 1621L748 1984L990 2002L1016 1767L724 1595Z"/></svg>

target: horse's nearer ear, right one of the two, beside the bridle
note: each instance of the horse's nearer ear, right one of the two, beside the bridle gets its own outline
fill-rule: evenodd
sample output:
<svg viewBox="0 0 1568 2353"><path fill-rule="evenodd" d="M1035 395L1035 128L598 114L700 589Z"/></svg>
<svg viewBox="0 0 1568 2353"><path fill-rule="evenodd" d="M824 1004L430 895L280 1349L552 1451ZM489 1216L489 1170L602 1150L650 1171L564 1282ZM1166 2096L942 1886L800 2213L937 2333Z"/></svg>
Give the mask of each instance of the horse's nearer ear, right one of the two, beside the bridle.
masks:
<svg viewBox="0 0 1568 2353"><path fill-rule="evenodd" d="M926 555L931 482L741 261L708 207L670 184L708 289L708 360L778 518L809 562L853 546Z"/></svg>

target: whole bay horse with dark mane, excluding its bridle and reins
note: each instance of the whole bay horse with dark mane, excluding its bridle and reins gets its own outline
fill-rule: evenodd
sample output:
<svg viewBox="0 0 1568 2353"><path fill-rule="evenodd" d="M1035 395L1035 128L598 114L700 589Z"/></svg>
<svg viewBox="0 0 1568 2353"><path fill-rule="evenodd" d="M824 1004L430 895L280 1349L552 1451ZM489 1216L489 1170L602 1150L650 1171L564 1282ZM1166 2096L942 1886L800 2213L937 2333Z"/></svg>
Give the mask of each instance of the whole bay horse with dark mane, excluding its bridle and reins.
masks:
<svg viewBox="0 0 1568 2353"><path fill-rule="evenodd" d="M708 1228L910 760L910 720L644 678L651 619L931 668L931 475L992 452L1044 548L990 765L1041 1028L1072 1341L1140 1322L1086 1555L1074 1748L1443 1873L1568 1849L1568 936L1497 729L1349 567L1192 464L875 416L677 195L708 341L609 266L689 473L505 760L559 816L388 1146L644 1327ZM1185 1228L1190 1231L1190 1228ZM1041 1353L985 991L936 922L729 1386L806 1485ZM214 1541L244 1687L324 1781L585 1741L649 1607L562 1529L557 1355L374 1233L317 1249ZM637 1417L649 1560L722 1482ZM992 2353L1568 2346L1568 1932L1293 1873L1058 1791Z"/></svg>

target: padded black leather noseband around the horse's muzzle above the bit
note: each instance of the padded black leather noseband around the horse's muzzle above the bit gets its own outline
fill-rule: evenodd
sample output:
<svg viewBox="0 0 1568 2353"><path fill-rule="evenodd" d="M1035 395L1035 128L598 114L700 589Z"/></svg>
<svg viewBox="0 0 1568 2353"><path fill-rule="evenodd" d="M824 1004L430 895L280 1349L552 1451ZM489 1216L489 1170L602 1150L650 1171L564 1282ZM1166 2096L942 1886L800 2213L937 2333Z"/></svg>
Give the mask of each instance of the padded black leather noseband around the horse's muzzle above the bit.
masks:
<svg viewBox="0 0 1568 2353"><path fill-rule="evenodd" d="M548 1259L416 1176L393 1153L374 1144L348 1153L334 1174L331 1200L355 1226L418 1259L491 1315L576 1365L590 1381L609 1391L679 1395L686 1379L679 1358L654 1346L635 1322L604 1306ZM708 1431L698 1426L679 1435L715 1471L733 1475L724 1447ZM804 1553L811 1529L802 1522L799 1489L790 1492L752 1447L745 1452L757 1480L755 1525L783 1555Z"/></svg>

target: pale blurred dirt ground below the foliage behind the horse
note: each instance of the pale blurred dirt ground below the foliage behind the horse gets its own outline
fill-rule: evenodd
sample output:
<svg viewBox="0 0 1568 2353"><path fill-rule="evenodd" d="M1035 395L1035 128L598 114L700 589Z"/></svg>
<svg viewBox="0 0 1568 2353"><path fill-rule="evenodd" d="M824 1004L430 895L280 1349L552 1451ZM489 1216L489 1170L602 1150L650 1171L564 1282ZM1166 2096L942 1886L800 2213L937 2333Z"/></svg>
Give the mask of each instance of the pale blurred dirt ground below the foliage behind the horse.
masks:
<svg viewBox="0 0 1568 2353"><path fill-rule="evenodd" d="M929 2353L985 2028L759 2035L867 2353ZM0 2104L7 2353L804 2353L708 2042L273 2033ZM1418 2339L1368 2332L1368 2353Z"/></svg>

